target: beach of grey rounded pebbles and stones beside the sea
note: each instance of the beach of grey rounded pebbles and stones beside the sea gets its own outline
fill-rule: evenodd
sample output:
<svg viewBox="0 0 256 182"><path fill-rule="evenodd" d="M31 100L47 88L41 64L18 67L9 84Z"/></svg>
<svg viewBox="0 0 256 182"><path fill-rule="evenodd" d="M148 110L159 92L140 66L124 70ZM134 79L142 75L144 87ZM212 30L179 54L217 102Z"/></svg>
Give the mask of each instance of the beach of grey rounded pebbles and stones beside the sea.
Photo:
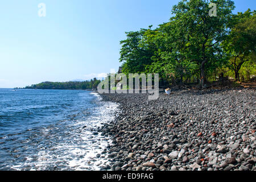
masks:
<svg viewBox="0 0 256 182"><path fill-rule="evenodd" d="M255 89L101 94L119 104L99 129L113 142L98 154L102 170L255 171Z"/></svg>

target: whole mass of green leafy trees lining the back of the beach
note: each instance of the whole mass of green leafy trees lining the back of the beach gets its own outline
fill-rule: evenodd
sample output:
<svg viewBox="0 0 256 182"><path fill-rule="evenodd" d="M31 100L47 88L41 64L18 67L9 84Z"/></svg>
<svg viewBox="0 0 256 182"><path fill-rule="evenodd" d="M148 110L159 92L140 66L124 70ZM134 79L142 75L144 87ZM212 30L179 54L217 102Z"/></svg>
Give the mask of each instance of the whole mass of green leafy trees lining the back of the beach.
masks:
<svg viewBox="0 0 256 182"><path fill-rule="evenodd" d="M217 16L209 16L209 3ZM181 0L172 18L155 30L126 32L123 73L159 73L172 84L214 81L220 73L249 80L255 75L255 11L232 14L230 0ZM236 57L237 56L237 57Z"/></svg>

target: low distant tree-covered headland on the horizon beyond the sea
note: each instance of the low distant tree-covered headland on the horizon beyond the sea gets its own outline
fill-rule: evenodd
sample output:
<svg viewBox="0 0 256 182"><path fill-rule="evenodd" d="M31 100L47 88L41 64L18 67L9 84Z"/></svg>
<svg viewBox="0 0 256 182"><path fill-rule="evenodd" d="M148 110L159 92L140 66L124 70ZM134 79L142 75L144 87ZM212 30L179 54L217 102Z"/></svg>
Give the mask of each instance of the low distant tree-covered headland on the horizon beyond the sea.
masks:
<svg viewBox="0 0 256 182"><path fill-rule="evenodd" d="M68 81L68 82L42 82L26 86L24 89L60 89L60 90L75 90L75 89L96 89L100 80L93 78L90 81Z"/></svg>

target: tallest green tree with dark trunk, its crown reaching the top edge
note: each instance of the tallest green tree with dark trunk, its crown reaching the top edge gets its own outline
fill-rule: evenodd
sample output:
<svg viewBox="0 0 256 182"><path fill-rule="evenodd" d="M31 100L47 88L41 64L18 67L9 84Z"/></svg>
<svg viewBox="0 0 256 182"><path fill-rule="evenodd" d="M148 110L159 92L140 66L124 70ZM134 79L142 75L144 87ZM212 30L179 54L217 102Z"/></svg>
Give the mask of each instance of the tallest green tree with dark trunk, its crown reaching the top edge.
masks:
<svg viewBox="0 0 256 182"><path fill-rule="evenodd" d="M209 67L216 67L220 56L220 43L225 40L229 30L226 28L234 9L234 2L230 0L212 1L217 5L217 16L209 16L207 0L183 0L175 5L172 13L177 24L177 34L187 40L184 54L187 59L200 67L200 85L207 81L206 72Z"/></svg>

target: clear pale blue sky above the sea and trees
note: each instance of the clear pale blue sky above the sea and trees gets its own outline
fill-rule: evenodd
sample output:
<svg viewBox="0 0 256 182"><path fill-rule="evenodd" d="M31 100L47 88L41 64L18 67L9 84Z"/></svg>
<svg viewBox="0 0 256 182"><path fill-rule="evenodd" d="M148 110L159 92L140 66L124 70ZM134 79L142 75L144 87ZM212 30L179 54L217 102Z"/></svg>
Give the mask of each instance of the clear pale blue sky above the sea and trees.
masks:
<svg viewBox="0 0 256 182"><path fill-rule="evenodd" d="M0 2L0 88L88 80L118 71L125 32L168 22L179 0L6 0ZM233 13L255 10L235 0ZM42 16L46 5L46 16ZM40 15L40 16L39 16ZM43 14L44 15L44 14Z"/></svg>

